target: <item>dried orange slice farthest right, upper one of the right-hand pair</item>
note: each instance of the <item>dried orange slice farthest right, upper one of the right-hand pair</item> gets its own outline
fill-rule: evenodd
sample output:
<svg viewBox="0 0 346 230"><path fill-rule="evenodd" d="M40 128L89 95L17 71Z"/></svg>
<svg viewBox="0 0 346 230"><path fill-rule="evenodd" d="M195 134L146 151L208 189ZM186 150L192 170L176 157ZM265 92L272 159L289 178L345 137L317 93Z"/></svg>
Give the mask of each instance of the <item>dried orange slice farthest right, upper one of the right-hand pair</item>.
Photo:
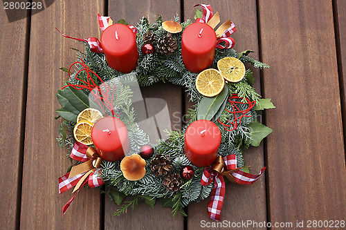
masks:
<svg viewBox="0 0 346 230"><path fill-rule="evenodd" d="M244 64L235 57L220 59L217 68L228 82L240 82L245 76Z"/></svg>

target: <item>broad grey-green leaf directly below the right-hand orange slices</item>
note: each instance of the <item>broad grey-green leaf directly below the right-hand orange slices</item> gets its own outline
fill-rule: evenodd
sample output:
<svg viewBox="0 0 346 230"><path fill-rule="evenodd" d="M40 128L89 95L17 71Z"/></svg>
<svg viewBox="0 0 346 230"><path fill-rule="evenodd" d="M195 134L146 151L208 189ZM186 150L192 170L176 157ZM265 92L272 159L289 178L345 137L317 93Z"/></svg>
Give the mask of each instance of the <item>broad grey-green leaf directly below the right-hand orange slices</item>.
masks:
<svg viewBox="0 0 346 230"><path fill-rule="evenodd" d="M203 97L197 108L197 119L208 119L217 114L220 107L228 96L228 85L225 84L224 89L215 97Z"/></svg>

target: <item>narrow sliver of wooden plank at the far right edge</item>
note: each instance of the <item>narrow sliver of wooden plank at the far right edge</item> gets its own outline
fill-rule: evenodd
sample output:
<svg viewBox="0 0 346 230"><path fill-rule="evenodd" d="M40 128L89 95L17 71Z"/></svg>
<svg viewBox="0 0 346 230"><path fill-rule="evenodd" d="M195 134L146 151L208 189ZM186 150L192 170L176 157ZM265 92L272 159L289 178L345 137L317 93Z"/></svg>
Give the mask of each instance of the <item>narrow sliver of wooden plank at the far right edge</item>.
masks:
<svg viewBox="0 0 346 230"><path fill-rule="evenodd" d="M340 80L341 106L343 110L344 139L346 123L346 2L333 0L334 22L336 23L336 54Z"/></svg>

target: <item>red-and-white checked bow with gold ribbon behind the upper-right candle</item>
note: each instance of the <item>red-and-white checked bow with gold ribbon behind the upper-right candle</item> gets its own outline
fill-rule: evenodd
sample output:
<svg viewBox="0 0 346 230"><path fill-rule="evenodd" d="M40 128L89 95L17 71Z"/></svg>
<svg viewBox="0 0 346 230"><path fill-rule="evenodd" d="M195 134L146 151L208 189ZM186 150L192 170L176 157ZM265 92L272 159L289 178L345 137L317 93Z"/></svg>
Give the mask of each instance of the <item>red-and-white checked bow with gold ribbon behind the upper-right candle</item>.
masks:
<svg viewBox="0 0 346 230"><path fill-rule="evenodd" d="M196 6L201 6L203 8L203 15L202 18L196 19L196 22L201 22L201 23L207 23L209 26L212 28L215 28L217 24L220 22L220 17L219 13L216 12L215 15L212 13L212 7L210 5L206 4L197 4ZM217 44L216 48L221 48L221 49L230 49L235 46L235 39L230 37L230 35L233 34L233 32L236 32L237 29L235 28L235 24L228 20L225 23L223 23L217 30L215 31L217 35ZM222 45L222 42L226 43L226 46Z"/></svg>

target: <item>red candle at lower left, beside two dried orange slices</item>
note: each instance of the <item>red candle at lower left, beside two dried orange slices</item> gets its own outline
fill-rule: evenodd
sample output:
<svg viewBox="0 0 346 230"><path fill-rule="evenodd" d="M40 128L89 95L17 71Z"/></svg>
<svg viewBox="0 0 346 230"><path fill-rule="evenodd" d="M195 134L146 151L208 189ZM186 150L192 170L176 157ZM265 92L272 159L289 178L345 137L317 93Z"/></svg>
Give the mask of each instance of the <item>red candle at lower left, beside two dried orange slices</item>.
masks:
<svg viewBox="0 0 346 230"><path fill-rule="evenodd" d="M116 117L104 117L95 123L91 130L91 139L103 160L116 162L129 151L127 128Z"/></svg>

